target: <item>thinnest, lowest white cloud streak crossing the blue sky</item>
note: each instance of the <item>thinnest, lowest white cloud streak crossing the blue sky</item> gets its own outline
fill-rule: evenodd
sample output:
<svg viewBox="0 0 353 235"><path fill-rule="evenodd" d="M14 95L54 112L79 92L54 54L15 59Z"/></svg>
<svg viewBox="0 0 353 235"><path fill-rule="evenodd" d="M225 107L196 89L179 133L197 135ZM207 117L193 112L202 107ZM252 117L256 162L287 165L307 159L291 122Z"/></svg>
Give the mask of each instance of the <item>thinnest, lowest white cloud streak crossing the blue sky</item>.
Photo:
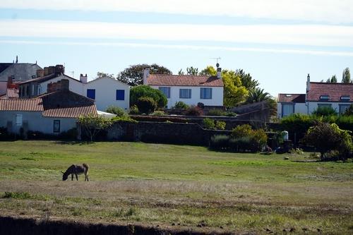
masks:
<svg viewBox="0 0 353 235"><path fill-rule="evenodd" d="M148 44L148 43L124 43L124 42L54 42L54 41L30 41L30 40L0 40L3 44L54 44L67 46L95 46L95 47L133 47L133 48L152 48L152 49L192 49L210 51L230 51L230 52L263 52L280 54L309 54L319 56L349 56L353 57L353 52L330 52L315 51L304 49L275 49L275 48L256 48L256 47L217 47L217 46L196 46L181 44Z"/></svg>

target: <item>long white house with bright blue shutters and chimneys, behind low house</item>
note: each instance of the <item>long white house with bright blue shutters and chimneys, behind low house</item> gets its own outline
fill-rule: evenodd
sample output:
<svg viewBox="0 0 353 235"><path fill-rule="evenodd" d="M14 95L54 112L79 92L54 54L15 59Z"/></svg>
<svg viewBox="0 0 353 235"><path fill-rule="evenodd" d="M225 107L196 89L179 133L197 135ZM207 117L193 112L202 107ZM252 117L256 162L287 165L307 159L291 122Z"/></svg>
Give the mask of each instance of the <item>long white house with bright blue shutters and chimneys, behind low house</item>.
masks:
<svg viewBox="0 0 353 235"><path fill-rule="evenodd" d="M80 75L80 80L64 74L63 66L44 68L44 76L27 80L19 85L20 98L37 97L48 92L48 86L69 80L69 90L95 100L98 110L105 111L109 106L117 106L128 110L130 88L112 78L99 78L88 82L87 75ZM48 74L49 73L49 74Z"/></svg>

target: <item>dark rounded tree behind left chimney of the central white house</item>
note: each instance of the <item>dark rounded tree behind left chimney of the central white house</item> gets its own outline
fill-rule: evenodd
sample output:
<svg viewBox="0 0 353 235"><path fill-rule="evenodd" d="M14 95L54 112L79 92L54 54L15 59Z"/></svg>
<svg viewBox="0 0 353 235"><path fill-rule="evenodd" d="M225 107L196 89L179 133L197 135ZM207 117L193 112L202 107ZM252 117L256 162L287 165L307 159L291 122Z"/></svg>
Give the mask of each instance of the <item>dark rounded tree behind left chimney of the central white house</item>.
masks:
<svg viewBox="0 0 353 235"><path fill-rule="evenodd" d="M142 85L143 84L143 69L150 68L150 74L172 74L168 68L159 66L157 64L136 64L128 68L125 68L124 71L121 71L117 79L123 83L128 83L128 85Z"/></svg>

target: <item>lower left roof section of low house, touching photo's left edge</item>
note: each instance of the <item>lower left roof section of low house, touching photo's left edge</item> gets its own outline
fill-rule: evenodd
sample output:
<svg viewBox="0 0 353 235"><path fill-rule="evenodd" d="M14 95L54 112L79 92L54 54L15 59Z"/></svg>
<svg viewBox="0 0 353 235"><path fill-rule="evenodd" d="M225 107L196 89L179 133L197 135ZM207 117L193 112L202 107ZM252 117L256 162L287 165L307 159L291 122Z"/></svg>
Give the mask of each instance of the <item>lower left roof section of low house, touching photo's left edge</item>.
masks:
<svg viewBox="0 0 353 235"><path fill-rule="evenodd" d="M43 111L41 99L3 99L0 100L1 111Z"/></svg>

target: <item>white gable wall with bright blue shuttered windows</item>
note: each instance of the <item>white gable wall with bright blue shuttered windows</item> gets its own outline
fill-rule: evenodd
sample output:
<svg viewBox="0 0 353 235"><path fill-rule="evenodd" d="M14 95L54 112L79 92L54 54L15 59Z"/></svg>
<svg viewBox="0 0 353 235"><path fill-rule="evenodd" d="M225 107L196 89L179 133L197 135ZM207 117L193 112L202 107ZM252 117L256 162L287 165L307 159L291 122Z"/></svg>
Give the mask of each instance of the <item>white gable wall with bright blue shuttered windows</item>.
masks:
<svg viewBox="0 0 353 235"><path fill-rule="evenodd" d="M105 111L109 106L121 107L128 111L130 104L130 87L112 78L99 78L84 84L83 94L87 96L88 89L95 89L95 105L97 110ZM116 90L125 90L124 100L116 100Z"/></svg>

